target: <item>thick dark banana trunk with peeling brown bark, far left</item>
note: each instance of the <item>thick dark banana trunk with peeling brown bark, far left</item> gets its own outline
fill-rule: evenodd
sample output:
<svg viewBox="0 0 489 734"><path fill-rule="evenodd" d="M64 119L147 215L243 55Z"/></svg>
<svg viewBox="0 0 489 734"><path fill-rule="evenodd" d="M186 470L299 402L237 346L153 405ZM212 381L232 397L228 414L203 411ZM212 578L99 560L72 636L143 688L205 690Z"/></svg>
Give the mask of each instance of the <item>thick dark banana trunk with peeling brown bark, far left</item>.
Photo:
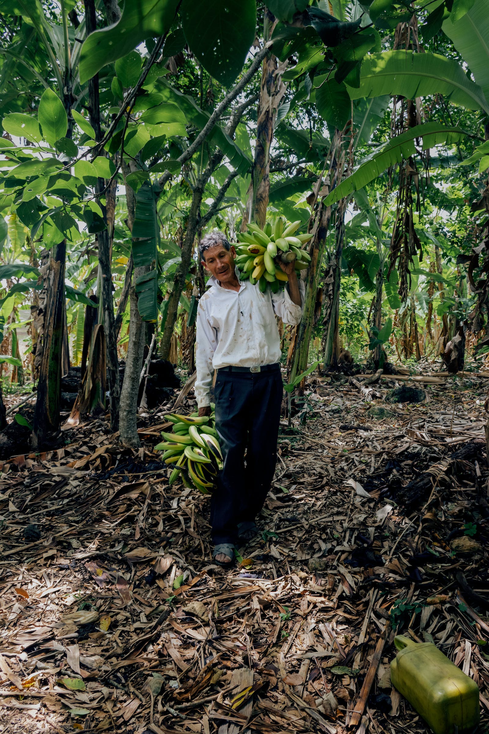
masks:
<svg viewBox="0 0 489 734"><path fill-rule="evenodd" d="M63 326L65 320L65 261L66 240L54 247L46 277L46 298L43 319L43 355L37 382L37 400L34 409L32 443L41 448L50 433L59 430L61 402L61 371ZM39 341L39 340L38 340Z"/></svg>

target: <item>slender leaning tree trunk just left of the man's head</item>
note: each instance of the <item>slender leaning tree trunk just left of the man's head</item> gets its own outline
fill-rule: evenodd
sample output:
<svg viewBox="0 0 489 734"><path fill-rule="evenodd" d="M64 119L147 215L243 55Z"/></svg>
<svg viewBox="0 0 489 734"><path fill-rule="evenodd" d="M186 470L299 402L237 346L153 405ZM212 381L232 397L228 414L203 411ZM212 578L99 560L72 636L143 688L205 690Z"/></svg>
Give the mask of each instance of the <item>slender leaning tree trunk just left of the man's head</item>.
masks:
<svg viewBox="0 0 489 734"><path fill-rule="evenodd" d="M188 214L187 229L185 231L185 239L183 240L182 247L182 260L175 272L172 293L168 299L168 307L166 309L166 322L160 349L163 360L168 359L174 325L175 321L177 321L178 304L180 302L180 296L182 295L183 288L185 288L185 279L191 262L192 248L194 247L194 239L200 218L200 205L202 204L204 186L205 183L202 178L198 178L194 187L190 213Z"/></svg>

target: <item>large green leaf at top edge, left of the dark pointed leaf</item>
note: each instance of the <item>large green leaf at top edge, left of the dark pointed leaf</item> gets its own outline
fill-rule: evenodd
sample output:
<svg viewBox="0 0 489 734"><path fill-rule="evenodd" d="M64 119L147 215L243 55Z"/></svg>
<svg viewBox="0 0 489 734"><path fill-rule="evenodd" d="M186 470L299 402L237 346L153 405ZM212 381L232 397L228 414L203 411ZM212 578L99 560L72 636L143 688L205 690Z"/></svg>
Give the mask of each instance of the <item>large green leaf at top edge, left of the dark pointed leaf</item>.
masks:
<svg viewBox="0 0 489 734"><path fill-rule="evenodd" d="M173 23L178 0L126 0L120 20L94 31L80 52L80 82L133 51L146 38L165 34Z"/></svg>

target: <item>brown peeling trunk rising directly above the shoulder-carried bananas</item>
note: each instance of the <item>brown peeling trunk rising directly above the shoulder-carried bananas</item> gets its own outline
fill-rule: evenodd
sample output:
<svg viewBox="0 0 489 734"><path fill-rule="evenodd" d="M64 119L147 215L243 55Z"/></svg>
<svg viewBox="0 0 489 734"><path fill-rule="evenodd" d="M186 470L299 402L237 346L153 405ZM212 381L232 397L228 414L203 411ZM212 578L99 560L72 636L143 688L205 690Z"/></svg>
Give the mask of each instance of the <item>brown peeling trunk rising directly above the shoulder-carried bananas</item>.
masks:
<svg viewBox="0 0 489 734"><path fill-rule="evenodd" d="M275 22L275 16L265 7L263 43L270 40ZM270 193L270 147L279 103L287 90L287 85L282 81L282 73L277 73L278 70L279 59L271 53L267 54L262 65L262 81L257 109L257 142L254 148L253 172L242 228L246 228L247 222L257 222L257 225L263 228L267 218Z"/></svg>

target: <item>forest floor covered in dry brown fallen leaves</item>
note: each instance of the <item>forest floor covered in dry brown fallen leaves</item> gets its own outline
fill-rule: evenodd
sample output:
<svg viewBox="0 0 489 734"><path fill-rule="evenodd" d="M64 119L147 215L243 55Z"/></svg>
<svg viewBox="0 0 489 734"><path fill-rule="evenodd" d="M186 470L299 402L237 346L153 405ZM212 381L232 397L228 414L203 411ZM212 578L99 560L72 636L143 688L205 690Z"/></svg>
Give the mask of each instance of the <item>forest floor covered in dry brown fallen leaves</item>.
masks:
<svg viewBox="0 0 489 734"><path fill-rule="evenodd" d="M361 734L424 732L391 686L395 633L477 681L485 731L488 377L312 378L232 570L208 498L151 451L166 410L136 456L100 420L4 462L0 732L342 734L354 710ZM406 384L426 399L386 402Z"/></svg>

